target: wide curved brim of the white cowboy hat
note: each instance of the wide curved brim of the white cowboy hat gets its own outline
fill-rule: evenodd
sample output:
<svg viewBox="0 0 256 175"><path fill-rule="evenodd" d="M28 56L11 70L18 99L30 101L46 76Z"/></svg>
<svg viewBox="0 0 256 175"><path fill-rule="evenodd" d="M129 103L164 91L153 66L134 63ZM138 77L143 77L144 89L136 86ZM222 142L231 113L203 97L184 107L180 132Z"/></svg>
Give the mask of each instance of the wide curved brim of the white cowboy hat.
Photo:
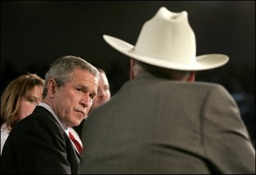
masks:
<svg viewBox="0 0 256 175"><path fill-rule="evenodd" d="M168 60L162 60L149 56L132 53L134 46L128 42L124 42L119 38L103 35L104 40L117 51L150 65L164 67L167 69L175 69L180 71L203 71L221 67L228 62L229 58L225 54L203 54L196 56L196 61L191 63L176 63Z"/></svg>

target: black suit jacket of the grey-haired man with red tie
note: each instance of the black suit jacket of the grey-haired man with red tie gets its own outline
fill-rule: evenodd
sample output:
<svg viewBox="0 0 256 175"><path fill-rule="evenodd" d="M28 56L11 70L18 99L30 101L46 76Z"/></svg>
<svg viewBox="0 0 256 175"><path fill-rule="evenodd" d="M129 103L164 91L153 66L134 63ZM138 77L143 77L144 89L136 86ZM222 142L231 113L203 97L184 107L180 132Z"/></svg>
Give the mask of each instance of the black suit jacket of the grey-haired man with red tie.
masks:
<svg viewBox="0 0 256 175"><path fill-rule="evenodd" d="M78 174L71 140L42 106L17 123L1 155L1 174Z"/></svg>

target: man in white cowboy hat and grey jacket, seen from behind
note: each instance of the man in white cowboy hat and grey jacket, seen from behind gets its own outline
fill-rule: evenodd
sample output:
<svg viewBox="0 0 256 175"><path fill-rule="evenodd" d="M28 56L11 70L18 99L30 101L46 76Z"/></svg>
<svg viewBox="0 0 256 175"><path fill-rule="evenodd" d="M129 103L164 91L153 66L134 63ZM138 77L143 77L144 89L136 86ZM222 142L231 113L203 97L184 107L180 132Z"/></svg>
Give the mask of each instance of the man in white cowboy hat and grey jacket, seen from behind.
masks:
<svg viewBox="0 0 256 175"><path fill-rule="evenodd" d="M255 149L224 87L194 82L195 71L228 56L196 56L187 12L162 7L135 46L104 35L130 56L130 78L89 115L81 174L255 174Z"/></svg>

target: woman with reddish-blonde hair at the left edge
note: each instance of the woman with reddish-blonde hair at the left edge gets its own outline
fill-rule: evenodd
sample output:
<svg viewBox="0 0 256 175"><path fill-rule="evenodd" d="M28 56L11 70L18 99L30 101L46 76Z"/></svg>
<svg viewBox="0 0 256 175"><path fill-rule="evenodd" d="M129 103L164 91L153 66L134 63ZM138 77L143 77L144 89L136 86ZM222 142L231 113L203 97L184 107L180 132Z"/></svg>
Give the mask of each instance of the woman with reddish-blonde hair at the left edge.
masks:
<svg viewBox="0 0 256 175"><path fill-rule="evenodd" d="M17 122L30 115L42 100L44 79L24 74L14 79L1 96L1 154L4 143Z"/></svg>

